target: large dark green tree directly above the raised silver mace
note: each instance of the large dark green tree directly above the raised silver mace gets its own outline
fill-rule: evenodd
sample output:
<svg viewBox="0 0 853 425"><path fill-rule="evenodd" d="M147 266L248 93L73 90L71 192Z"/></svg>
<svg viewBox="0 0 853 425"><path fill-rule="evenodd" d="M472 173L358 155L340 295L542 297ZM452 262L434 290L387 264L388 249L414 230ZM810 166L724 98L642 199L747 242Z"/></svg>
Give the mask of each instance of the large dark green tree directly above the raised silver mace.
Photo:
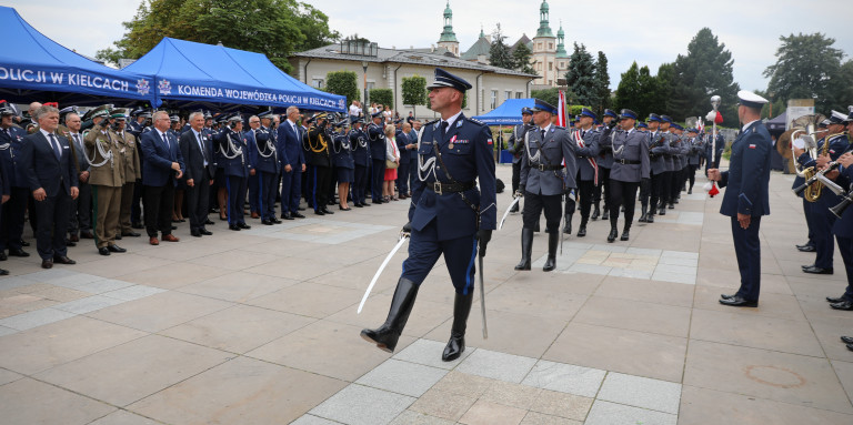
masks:
<svg viewBox="0 0 853 425"><path fill-rule="evenodd" d="M722 98L721 112L726 121L736 121L737 91L732 53L720 43L711 29L699 30L688 44L688 54L679 54L673 64L669 111L673 119L704 117L711 110L711 97Z"/></svg>

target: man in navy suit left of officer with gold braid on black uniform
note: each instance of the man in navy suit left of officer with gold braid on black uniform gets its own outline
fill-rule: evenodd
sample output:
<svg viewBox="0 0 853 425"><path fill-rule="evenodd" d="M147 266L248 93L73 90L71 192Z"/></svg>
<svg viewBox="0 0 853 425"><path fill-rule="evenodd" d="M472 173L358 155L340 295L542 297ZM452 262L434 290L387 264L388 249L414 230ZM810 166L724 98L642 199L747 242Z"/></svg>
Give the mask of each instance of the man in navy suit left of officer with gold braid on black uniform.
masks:
<svg viewBox="0 0 853 425"><path fill-rule="evenodd" d="M288 119L279 125L275 146L281 161L281 217L304 219L299 213L302 195L302 173L305 172L305 153L302 150L303 130L299 123L299 108L287 110Z"/></svg>

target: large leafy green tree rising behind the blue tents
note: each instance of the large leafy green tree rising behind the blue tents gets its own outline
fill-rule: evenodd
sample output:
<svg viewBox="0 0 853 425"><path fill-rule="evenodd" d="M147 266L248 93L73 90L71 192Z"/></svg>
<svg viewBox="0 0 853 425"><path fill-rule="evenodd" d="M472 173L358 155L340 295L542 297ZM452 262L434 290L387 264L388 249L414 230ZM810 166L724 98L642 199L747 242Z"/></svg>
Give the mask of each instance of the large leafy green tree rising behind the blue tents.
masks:
<svg viewBox="0 0 853 425"><path fill-rule="evenodd" d="M143 0L124 36L97 58L139 59L163 37L265 54L289 72L288 55L337 40L329 18L297 0Z"/></svg>

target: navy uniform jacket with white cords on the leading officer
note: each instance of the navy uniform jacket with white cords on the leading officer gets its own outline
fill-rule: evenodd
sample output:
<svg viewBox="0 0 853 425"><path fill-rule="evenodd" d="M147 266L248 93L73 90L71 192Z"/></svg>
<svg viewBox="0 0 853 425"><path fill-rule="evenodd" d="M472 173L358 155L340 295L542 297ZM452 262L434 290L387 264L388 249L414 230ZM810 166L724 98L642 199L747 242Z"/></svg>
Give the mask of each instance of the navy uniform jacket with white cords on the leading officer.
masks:
<svg viewBox="0 0 853 425"><path fill-rule="evenodd" d="M423 133L418 146L418 162L424 164L425 170L415 180L412 189L412 202L409 206L409 221L412 223L412 229L422 231L435 221L439 241L472 236L478 230L478 214L471 205L479 209L479 229L496 229L496 192L492 156L494 144L489 127L465 118L464 114L459 114L443 138L440 121L426 123L421 130ZM441 153L443 165L438 161L435 150ZM479 190L472 188L458 193L436 193L434 190L436 182L451 183L448 171L460 184L476 181L480 185Z"/></svg>

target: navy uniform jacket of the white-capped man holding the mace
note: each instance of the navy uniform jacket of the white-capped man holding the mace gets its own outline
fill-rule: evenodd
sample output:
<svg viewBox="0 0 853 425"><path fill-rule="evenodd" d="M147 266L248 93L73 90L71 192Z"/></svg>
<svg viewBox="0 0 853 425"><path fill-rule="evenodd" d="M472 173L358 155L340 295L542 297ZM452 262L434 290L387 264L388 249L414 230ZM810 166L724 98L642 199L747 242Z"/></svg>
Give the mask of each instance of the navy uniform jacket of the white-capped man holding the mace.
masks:
<svg viewBox="0 0 853 425"><path fill-rule="evenodd" d="M732 143L729 171L721 173L726 188L720 213L729 216L770 214L770 151L773 142L766 127L755 121Z"/></svg>

